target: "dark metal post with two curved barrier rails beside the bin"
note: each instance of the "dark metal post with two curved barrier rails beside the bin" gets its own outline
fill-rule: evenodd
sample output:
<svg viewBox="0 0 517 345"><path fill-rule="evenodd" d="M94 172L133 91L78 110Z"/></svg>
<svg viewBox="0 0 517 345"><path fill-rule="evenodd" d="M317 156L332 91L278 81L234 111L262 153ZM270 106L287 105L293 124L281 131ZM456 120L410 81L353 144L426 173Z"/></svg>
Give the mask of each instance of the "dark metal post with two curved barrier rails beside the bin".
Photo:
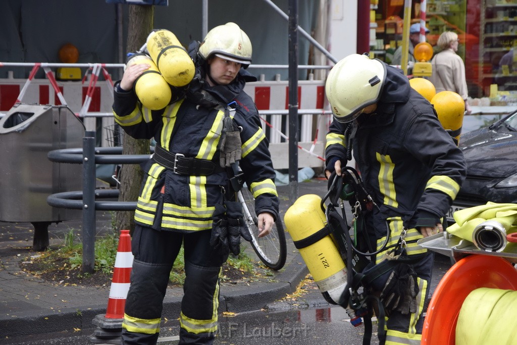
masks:
<svg viewBox="0 0 517 345"><path fill-rule="evenodd" d="M95 211L134 211L136 201L97 201L118 198L118 189L95 189L96 164L139 164L149 155L122 155L122 147L95 147L95 131L86 131L82 148L58 149L48 153L52 162L83 164L83 190L51 194L47 203L53 207L83 210L83 272L95 268ZM93 207L92 207L93 206Z"/></svg>

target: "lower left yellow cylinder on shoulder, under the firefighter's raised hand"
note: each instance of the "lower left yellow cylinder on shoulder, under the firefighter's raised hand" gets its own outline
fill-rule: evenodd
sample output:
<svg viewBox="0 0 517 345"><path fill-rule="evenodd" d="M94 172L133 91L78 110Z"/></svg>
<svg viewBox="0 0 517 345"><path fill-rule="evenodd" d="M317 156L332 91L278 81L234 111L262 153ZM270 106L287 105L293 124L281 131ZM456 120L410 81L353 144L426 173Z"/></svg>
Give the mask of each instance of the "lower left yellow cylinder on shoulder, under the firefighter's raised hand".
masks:
<svg viewBox="0 0 517 345"><path fill-rule="evenodd" d="M144 107L151 110L165 108L171 101L171 87L163 79L158 67L149 56L141 53L134 54L128 59L126 67L137 64L148 64L151 67L135 80L134 92L136 96Z"/></svg>

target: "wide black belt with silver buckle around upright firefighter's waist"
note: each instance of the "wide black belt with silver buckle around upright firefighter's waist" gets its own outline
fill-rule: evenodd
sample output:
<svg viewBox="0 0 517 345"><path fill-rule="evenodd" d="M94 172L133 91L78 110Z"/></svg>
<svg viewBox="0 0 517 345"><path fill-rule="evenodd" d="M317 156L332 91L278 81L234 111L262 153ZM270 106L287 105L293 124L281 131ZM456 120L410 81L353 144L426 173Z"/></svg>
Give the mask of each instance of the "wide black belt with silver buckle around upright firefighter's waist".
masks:
<svg viewBox="0 0 517 345"><path fill-rule="evenodd" d="M180 153L165 151L158 145L155 147L153 160L178 175L208 176L224 171L211 160L185 157Z"/></svg>

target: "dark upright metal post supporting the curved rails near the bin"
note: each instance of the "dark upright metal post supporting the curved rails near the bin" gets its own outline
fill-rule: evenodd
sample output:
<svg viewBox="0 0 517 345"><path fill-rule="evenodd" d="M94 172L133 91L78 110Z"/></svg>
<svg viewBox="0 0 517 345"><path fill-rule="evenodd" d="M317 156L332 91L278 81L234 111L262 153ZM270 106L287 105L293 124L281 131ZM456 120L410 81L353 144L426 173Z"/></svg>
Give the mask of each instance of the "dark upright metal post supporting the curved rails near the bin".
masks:
<svg viewBox="0 0 517 345"><path fill-rule="evenodd" d="M83 273L95 268L95 131L83 138Z"/></svg>

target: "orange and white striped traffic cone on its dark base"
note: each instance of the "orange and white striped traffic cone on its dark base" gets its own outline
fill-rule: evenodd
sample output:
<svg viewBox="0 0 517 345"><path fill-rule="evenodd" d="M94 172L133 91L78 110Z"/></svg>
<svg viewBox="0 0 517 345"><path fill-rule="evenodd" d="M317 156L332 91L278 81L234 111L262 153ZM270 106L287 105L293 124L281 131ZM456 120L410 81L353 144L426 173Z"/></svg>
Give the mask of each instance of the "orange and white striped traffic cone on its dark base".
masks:
<svg viewBox="0 0 517 345"><path fill-rule="evenodd" d="M97 326L90 341L94 343L120 343L124 307L129 291L133 254L131 253L131 236L129 230L120 230L115 268L111 281L108 308L105 314L98 314L92 320ZM117 342L118 341L118 342Z"/></svg>

